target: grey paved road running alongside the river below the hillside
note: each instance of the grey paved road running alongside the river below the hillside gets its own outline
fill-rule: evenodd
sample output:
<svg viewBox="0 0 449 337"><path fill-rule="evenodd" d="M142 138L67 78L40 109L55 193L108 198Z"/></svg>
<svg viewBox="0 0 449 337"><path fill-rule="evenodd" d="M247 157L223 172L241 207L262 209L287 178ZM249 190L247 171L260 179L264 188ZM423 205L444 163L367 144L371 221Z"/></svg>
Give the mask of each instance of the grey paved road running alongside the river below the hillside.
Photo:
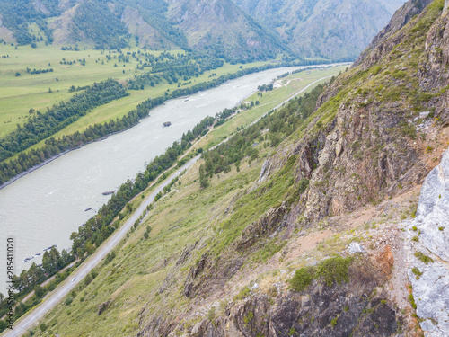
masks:
<svg viewBox="0 0 449 337"><path fill-rule="evenodd" d="M311 87L313 84L317 84L321 82L322 80L325 80L331 76L322 77L319 80L314 81L311 84L308 84L305 86L302 90L300 90L298 93L295 93L293 96L288 98L285 102L280 103L277 105L274 110L281 107L286 102L290 101L294 97L296 97L298 94L304 93L305 90L307 90L309 87ZM260 117L261 118L261 117ZM260 120L260 119L258 119ZM252 124L254 124L256 121L254 121ZM228 139L225 139L225 141ZM224 141L224 142L225 142ZM216 146L214 146L216 147ZM160 191L163 191L163 188L167 186L174 178L180 175L180 173L184 170L189 169L193 164L195 164L199 159L199 155L195 156L194 158L190 159L187 164L184 164L180 167L179 170L177 170L175 173L172 173L170 177L168 177L161 185L159 185L153 193L151 193L144 202L140 205L139 208L136 209L136 211L133 213L131 217L129 217L128 221L123 224L119 228L117 232L114 232L110 238L104 243L101 244L100 248L98 248L93 255L91 255L83 264L78 267L75 272L73 272L61 285L59 285L51 294L48 295L44 299L44 302L40 304L36 309L31 310L30 313L27 315L24 315L19 321L15 322L13 327L14 330L5 330L4 333L1 334L2 337L20 337L23 333L26 333L28 329L31 328L32 324L37 323L44 315L48 313L52 308L57 306L57 304L62 300L63 297L65 297L72 289L76 287L76 285L81 282L84 277L101 262L101 260L108 254L114 247L119 244L120 240L127 235L129 229L131 226L134 225L136 220L142 215L145 208L151 204L154 201L154 197L157 193ZM74 280L75 279L75 280Z"/></svg>

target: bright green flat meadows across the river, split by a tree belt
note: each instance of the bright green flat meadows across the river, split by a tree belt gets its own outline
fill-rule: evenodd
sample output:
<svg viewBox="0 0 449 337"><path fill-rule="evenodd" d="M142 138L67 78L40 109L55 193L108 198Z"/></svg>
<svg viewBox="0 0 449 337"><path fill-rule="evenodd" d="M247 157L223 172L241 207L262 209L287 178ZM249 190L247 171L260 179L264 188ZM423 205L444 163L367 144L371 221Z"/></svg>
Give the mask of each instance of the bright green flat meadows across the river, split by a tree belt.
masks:
<svg viewBox="0 0 449 337"><path fill-rule="evenodd" d="M101 50L83 49L80 51L61 50L52 46L45 46L43 42L38 43L37 49L30 46L2 45L1 56L9 55L9 58L1 58L0 63L0 137L16 129L17 124L22 124L28 117L28 111L32 108L39 111L46 111L48 106L60 101L66 101L75 93L68 93L71 85L84 86L93 82L101 82L107 78L118 81L126 81L134 75L142 74L145 71L136 70L136 58L130 58L129 63L119 63L114 56L117 52L112 52L112 59L108 62L106 55L109 51L101 53ZM137 51L137 48L123 49L123 53ZM158 55L160 51L151 51ZM181 50L171 50L172 53L182 52ZM59 62L66 60L78 60L85 58L86 65L81 66L78 61L74 65L61 65ZM98 63L95 61L98 60ZM104 64L101 64L101 63ZM254 67L269 62L256 62L243 67ZM49 64L49 65L48 65ZM117 64L118 67L114 67ZM123 67L125 65L125 67ZM198 78L192 78L194 85L210 80L208 77L212 73L216 76L233 73L239 70L241 65L225 64L224 67L207 71ZM53 68L54 71L45 74L28 74L26 68L45 69ZM125 72L123 72L125 71ZM20 73L20 76L16 76ZM130 91L131 95L121 102L111 102L108 106L100 107L85 118L77 120L74 125L58 133L58 136L67 135L76 130L84 130L91 123L99 123L117 117L122 117L129 110L136 107L138 102L142 102L149 97L162 95L167 89L174 90L177 84L169 85L166 82L154 88L147 88L143 91ZM51 88L52 93L48 92Z"/></svg>

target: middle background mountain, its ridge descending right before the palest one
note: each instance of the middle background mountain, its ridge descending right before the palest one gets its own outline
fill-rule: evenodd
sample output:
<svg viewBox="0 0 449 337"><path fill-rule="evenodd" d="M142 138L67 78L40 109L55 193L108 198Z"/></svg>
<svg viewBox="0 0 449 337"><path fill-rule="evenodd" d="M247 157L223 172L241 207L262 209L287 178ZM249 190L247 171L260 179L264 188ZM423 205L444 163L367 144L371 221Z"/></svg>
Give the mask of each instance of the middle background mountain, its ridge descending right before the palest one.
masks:
<svg viewBox="0 0 449 337"><path fill-rule="evenodd" d="M277 34L262 28L231 0L172 0L169 18L189 47L212 50L220 58L276 58L286 50Z"/></svg>

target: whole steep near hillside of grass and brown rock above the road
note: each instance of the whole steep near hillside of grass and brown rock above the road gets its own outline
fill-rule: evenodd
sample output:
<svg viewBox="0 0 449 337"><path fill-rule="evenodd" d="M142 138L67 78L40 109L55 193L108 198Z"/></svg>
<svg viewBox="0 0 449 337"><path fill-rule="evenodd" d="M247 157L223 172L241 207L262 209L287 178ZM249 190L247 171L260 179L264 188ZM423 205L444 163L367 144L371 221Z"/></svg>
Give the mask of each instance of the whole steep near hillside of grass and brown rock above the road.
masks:
<svg viewBox="0 0 449 337"><path fill-rule="evenodd" d="M418 334L399 224L449 141L447 20L410 0L358 66L205 152L41 335Z"/></svg>

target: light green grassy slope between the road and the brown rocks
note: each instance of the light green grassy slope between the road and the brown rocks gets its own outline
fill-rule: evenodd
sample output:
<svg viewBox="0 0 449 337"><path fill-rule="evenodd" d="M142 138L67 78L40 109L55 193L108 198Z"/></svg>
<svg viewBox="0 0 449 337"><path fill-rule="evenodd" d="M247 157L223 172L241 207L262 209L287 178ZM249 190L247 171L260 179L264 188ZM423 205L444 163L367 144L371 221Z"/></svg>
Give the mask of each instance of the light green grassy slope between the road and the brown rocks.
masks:
<svg viewBox="0 0 449 337"><path fill-rule="evenodd" d="M229 173L226 178L213 181L213 188L200 190L197 167L197 173L181 180L180 191L172 192L156 203L152 215L123 242L121 249L116 250L117 256L99 270L99 275L88 286L76 290L76 296L68 306L65 300L52 311L45 321L48 325L51 322L57 324L42 335L135 334L138 313L145 306L147 313L153 314L168 314L175 304L177 309L187 310L189 300L177 287L162 294L157 293L158 288L175 267L182 248L199 237L212 235L211 226L206 224L221 217L230 196L242 191L243 181L255 179L259 169L260 164L253 165L251 171L242 170L238 176L235 172ZM178 211L180 209L182 212ZM153 230L149 239L142 240L146 226ZM166 259L170 262L165 266L163 261ZM169 277L174 283L182 284L187 276L189 269L181 267L184 268L176 273L175 279ZM111 300L110 306L98 315L98 306L108 300Z"/></svg>

